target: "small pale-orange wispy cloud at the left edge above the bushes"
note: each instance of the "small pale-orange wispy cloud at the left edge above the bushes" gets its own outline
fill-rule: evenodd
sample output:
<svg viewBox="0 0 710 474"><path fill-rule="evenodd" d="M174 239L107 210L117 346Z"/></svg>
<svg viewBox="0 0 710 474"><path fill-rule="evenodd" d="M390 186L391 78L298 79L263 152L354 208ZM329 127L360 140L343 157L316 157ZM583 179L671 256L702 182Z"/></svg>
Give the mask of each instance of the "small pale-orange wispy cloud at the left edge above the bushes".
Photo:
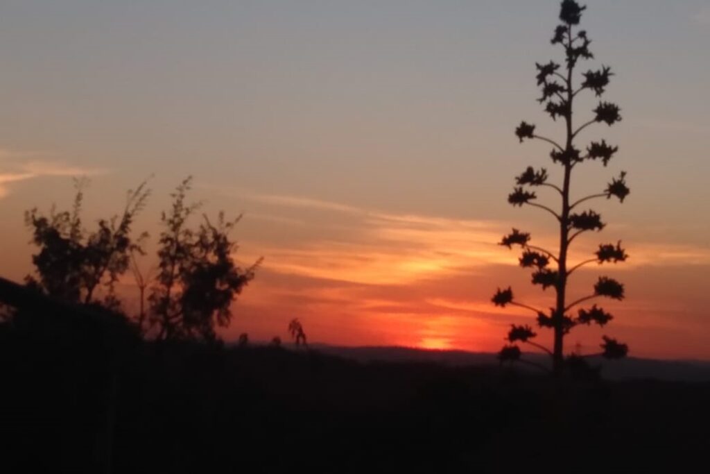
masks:
<svg viewBox="0 0 710 474"><path fill-rule="evenodd" d="M17 163L18 158L35 156L35 153L15 153L0 149L0 198L9 194L8 185L28 181L41 176L96 176L106 173L96 168L82 168L55 161L26 161Z"/></svg>

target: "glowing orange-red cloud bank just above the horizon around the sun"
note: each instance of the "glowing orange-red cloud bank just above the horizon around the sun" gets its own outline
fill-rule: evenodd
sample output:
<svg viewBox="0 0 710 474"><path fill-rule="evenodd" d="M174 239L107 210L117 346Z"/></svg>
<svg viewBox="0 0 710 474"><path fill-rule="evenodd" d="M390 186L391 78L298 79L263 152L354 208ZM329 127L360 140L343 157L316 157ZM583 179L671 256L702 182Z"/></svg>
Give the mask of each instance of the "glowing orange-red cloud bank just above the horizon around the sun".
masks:
<svg viewBox="0 0 710 474"><path fill-rule="evenodd" d="M530 286L528 272L518 269L518 252L497 244L508 225L395 215L310 198L239 197L262 205L258 215L270 216L257 219L255 228L280 227L281 233L293 235L283 240L278 234L275 242L253 237L243 241L241 259L263 255L266 261L236 304L238 316L229 335L247 329L256 338L283 335L288 318L298 317L313 341L495 351L510 323L535 325L534 313L493 306L490 298L496 287L512 284L520 298L542 311L551 304L552 291ZM249 222L249 212L244 222ZM579 242L573 258L586 259L596 249L592 242L606 242L610 233ZM555 247L554 237L536 242ZM674 325L673 315L685 310L674 301L682 298L682 291L670 287L666 296L655 298L644 291L645 279L668 268L703 268L710 264L710 252L643 242L633 242L628 251L628 265L585 267L574 278L571 296L588 294L598 274L623 271L629 301L600 303L616 315L612 333L635 334L628 341L634 353L653 355L644 335ZM697 318L700 308L689 304L696 315L692 318ZM547 335L540 333L544 341ZM569 343L596 351L603 333L579 328ZM682 348L675 350L683 353Z"/></svg>

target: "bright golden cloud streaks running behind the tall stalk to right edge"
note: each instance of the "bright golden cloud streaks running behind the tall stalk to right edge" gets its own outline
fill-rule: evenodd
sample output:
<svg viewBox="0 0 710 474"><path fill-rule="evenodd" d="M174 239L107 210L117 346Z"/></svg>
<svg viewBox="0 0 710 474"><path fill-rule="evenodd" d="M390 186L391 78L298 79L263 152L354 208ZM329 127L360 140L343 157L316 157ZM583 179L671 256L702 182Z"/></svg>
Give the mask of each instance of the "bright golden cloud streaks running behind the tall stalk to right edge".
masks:
<svg viewBox="0 0 710 474"><path fill-rule="evenodd" d="M279 208L307 209L297 214L298 241L274 244L252 242L256 252L266 257L266 265L282 274L345 281L367 285L409 285L417 281L485 269L495 265L516 266L518 252L497 244L510 231L506 223L466 220L414 214L395 214L360 208L316 198L290 195L263 195L239 190L239 198L268 205L271 222L293 227L294 217L279 218ZM321 212L312 212L321 211ZM338 218L333 213L343 214ZM327 234L329 227L338 232ZM542 236L533 242L555 248L555 237ZM600 242L606 242L601 239ZM599 242L597 242L599 243ZM577 245L570 254L581 262L596 251L594 242ZM710 264L710 249L677 244L635 242L631 258L614 271L633 271L639 266L682 266ZM598 266L589 269L599 271Z"/></svg>

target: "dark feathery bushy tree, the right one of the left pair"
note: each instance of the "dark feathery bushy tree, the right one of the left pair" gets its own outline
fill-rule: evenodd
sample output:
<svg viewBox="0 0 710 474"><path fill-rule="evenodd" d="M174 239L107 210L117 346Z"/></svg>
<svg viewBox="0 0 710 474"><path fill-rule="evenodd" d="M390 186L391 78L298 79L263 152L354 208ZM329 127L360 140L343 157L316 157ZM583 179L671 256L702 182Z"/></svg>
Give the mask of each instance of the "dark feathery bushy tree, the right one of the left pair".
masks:
<svg viewBox="0 0 710 474"><path fill-rule="evenodd" d="M261 262L241 269L232 259L236 244L229 232L241 216L225 220L220 212L212 224L203 215L197 230L188 227L187 221L200 207L185 202L190 182L186 178L178 185L171 194L172 208L161 217L158 274L148 298L159 340L214 340L215 328L229 325L232 301Z"/></svg>

